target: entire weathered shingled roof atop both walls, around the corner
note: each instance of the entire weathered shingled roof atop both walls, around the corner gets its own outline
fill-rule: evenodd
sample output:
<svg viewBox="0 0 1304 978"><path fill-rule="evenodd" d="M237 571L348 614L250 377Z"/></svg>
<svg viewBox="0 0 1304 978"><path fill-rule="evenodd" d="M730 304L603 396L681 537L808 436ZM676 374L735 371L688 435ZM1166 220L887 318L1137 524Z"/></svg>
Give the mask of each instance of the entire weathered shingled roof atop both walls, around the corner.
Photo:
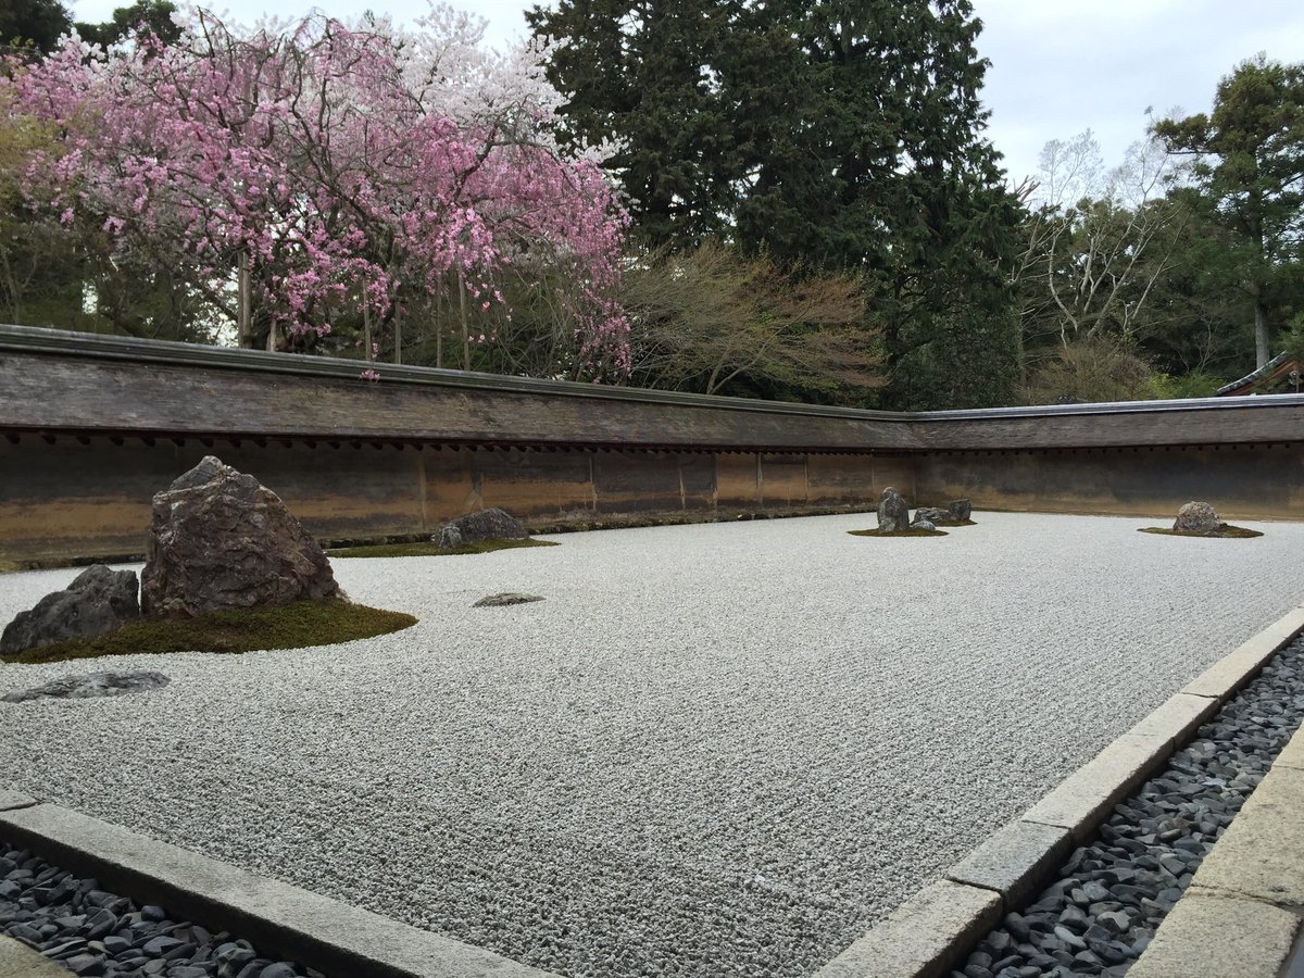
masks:
<svg viewBox="0 0 1304 978"><path fill-rule="evenodd" d="M1304 396L893 413L0 326L0 432L640 451L1304 441Z"/></svg>

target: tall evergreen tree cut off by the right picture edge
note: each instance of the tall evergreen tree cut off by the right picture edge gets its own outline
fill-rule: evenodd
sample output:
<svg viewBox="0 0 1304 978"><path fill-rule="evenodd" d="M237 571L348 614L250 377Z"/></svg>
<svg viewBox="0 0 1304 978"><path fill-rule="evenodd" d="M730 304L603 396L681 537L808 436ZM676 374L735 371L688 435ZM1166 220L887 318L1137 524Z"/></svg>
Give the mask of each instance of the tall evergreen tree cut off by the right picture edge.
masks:
<svg viewBox="0 0 1304 978"><path fill-rule="evenodd" d="M1197 206L1230 239L1210 270L1249 296L1264 366L1275 352L1274 305L1304 276L1304 64L1245 61L1219 82L1211 115L1164 119L1154 133L1170 153L1194 156Z"/></svg>

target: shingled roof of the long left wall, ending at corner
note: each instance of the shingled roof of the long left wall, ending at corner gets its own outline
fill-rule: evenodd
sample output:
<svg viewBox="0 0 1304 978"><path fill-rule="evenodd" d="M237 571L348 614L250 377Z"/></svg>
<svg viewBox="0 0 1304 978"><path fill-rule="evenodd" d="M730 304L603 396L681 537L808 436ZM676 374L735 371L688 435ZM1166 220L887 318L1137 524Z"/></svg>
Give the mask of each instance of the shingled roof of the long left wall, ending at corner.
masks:
<svg viewBox="0 0 1304 978"><path fill-rule="evenodd" d="M883 412L381 364L381 381L369 382L359 378L364 366L0 326L0 432L675 451L918 447Z"/></svg>

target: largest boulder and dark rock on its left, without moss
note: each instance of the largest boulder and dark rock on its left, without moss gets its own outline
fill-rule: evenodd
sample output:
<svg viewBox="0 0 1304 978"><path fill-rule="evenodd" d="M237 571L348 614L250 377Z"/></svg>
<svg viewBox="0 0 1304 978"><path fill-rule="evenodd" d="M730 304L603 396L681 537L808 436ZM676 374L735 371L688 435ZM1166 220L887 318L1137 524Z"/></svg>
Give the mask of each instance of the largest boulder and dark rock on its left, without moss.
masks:
<svg viewBox="0 0 1304 978"><path fill-rule="evenodd" d="M140 597L104 565L20 612L0 653L94 638L145 615L346 600L330 561L280 497L207 455L154 497Z"/></svg>

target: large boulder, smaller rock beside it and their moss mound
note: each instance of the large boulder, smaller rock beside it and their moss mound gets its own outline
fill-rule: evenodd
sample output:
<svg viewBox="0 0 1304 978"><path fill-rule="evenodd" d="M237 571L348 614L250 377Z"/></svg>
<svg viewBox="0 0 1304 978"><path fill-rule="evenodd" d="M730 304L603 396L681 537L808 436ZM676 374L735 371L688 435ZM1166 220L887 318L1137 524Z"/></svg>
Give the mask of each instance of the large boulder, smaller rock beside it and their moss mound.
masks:
<svg viewBox="0 0 1304 978"><path fill-rule="evenodd" d="M352 604L284 502L207 455L154 497L145 569L96 565L0 634L0 660L252 652L374 638L416 623Z"/></svg>

